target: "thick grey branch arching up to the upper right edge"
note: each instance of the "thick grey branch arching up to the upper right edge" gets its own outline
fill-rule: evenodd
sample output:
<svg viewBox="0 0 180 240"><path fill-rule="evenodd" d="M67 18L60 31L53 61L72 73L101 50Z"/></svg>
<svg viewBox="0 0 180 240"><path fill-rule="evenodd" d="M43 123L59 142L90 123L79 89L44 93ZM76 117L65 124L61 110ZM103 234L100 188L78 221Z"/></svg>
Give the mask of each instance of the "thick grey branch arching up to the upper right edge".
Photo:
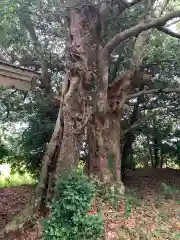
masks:
<svg viewBox="0 0 180 240"><path fill-rule="evenodd" d="M150 19L139 23L136 26L129 28L121 33L116 34L112 39L110 39L104 47L103 58L108 58L112 51L122 42L123 40L139 35L141 32L146 31L153 27L164 26L172 18L180 17L180 11L173 11L166 16Z"/></svg>

